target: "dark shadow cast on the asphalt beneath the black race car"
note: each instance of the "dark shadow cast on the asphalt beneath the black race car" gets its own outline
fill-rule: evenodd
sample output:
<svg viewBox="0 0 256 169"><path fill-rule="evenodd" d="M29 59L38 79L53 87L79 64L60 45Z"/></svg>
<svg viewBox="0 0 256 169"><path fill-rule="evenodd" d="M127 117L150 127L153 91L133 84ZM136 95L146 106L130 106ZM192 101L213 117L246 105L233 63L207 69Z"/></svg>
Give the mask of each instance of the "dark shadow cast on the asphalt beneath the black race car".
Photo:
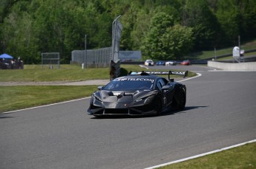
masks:
<svg viewBox="0 0 256 169"><path fill-rule="evenodd" d="M151 117L162 117L162 116L169 116L174 114L182 114L188 113L187 111L196 109L196 108L206 108L208 106L188 106L185 107L183 110L171 108L169 111L165 111L159 115L100 115L97 117L91 117L91 119L99 120L99 119L132 119L132 118L151 118Z"/></svg>

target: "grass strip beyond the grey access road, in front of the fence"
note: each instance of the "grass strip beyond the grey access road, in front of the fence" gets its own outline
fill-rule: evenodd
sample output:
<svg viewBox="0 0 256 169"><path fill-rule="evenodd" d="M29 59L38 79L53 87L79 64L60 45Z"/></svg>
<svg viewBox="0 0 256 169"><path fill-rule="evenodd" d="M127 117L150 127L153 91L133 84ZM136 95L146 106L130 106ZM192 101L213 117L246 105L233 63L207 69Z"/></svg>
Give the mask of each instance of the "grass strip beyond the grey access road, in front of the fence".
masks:
<svg viewBox="0 0 256 169"><path fill-rule="evenodd" d="M138 65L121 65L121 74L147 70ZM191 75L191 74L190 74ZM175 76L174 76L175 77ZM42 69L41 65L24 65L24 69L1 69L1 82L42 82L109 79L109 68L82 69L76 65L61 65L60 69Z"/></svg>

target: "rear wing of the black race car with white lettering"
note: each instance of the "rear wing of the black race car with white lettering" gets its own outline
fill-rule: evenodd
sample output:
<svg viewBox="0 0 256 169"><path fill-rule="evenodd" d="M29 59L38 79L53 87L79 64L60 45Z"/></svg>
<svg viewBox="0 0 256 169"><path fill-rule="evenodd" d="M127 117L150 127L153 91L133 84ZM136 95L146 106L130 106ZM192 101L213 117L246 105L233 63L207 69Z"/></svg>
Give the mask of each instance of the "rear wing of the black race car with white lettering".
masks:
<svg viewBox="0 0 256 169"><path fill-rule="evenodd" d="M183 78L188 76L188 71L186 72L171 72L170 71L142 71L142 72L129 72L128 75L168 75L168 80L171 80L170 75L179 75Z"/></svg>

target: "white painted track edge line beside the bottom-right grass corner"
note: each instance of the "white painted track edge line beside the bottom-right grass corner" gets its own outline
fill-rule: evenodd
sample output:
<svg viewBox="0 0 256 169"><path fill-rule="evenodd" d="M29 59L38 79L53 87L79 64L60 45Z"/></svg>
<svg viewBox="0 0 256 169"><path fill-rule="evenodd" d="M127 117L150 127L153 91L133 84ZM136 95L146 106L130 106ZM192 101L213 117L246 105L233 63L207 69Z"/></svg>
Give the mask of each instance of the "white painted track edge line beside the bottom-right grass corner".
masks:
<svg viewBox="0 0 256 169"><path fill-rule="evenodd" d="M209 154L218 153L220 151L226 151L226 150L229 150L231 148L236 148L236 147L239 147L241 145L246 145L246 144L249 144L249 143L252 143L252 142L256 142L256 139L253 139L253 140L248 141L248 142L243 142L243 143L240 143L240 144L237 144L237 145L232 145L232 146L229 146L229 147L226 147L226 148L220 148L220 149L215 150L215 151L209 151L209 152L204 153L204 154L198 154L198 155L195 155L195 156L190 156L190 157L187 157L185 159L178 159L178 160L175 160L173 162L167 162L167 163L164 163L164 164L161 164L161 165L155 165L155 166L145 168L145 169L160 168L160 167L163 167L163 166L166 166L166 165L172 165L172 164L175 164L175 163L178 163L178 162L185 162L189 159L196 159L196 158L201 157L201 156L206 156L206 155L209 155Z"/></svg>

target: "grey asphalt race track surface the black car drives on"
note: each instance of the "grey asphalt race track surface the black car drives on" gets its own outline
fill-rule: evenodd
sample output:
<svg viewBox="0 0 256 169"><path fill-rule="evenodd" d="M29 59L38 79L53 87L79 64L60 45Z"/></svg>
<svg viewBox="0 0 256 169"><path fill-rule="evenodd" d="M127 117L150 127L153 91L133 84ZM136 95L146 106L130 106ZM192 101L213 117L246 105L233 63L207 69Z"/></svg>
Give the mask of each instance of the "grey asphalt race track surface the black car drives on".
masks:
<svg viewBox="0 0 256 169"><path fill-rule="evenodd" d="M184 111L85 114L88 99L0 115L0 168L148 168L256 138L256 72L183 66Z"/></svg>

